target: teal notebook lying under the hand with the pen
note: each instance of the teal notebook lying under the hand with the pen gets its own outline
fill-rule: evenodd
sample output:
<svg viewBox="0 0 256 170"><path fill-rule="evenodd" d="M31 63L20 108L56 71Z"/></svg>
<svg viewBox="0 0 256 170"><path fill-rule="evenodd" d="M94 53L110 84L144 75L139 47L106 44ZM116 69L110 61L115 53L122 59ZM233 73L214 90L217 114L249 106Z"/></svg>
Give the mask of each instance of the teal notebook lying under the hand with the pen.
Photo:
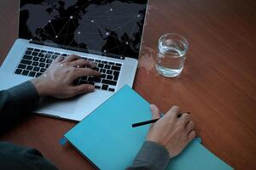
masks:
<svg viewBox="0 0 256 170"><path fill-rule="evenodd" d="M102 170L125 169L137 156L149 127L133 128L131 124L149 119L149 103L125 85L64 137L96 167ZM168 169L232 168L193 140L180 156L170 161Z"/></svg>

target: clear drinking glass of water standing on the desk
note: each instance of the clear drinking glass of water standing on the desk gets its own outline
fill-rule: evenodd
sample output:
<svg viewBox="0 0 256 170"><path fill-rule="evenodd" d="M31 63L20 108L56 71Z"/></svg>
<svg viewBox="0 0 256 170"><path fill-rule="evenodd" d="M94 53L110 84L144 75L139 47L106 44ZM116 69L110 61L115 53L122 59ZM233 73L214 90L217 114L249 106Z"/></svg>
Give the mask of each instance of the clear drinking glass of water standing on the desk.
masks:
<svg viewBox="0 0 256 170"><path fill-rule="evenodd" d="M175 33L160 37L156 70L164 77L177 77L183 71L189 42Z"/></svg>

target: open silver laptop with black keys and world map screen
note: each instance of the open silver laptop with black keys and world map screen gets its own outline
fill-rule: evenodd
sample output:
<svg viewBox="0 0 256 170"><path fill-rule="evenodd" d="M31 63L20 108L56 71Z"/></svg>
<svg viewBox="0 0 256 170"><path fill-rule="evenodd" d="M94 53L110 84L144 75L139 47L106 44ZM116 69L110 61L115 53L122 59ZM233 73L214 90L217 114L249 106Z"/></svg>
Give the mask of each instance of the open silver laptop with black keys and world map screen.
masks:
<svg viewBox="0 0 256 170"><path fill-rule="evenodd" d="M0 69L0 89L41 76L58 56L96 63L102 77L80 77L96 90L73 99L44 98L36 113L81 121L137 71L148 0L20 0L19 38Z"/></svg>

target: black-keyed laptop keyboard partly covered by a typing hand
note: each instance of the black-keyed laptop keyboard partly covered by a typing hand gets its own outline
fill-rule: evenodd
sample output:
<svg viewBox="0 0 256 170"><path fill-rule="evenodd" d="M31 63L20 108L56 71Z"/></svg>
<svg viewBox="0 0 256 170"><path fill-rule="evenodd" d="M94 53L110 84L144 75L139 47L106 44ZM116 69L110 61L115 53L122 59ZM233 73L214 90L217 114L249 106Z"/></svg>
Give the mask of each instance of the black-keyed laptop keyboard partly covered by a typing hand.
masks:
<svg viewBox="0 0 256 170"><path fill-rule="evenodd" d="M67 57L67 55L68 54L38 48L26 48L25 54L15 69L15 74L28 77L40 77L58 56ZM86 57L83 57L83 59L94 62L96 64L96 68L94 69L101 72L102 76L80 77L74 83L76 85L88 83L93 85L96 89L114 92L119 80L119 72L121 71L122 64L102 59L91 59Z"/></svg>

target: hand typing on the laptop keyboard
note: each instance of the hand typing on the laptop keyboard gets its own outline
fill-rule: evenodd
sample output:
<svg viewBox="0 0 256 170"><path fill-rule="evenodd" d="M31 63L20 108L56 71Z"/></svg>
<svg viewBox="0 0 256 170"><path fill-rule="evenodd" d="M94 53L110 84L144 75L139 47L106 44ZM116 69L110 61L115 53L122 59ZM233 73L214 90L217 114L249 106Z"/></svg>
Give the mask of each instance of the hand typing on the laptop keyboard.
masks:
<svg viewBox="0 0 256 170"><path fill-rule="evenodd" d="M58 99L70 98L78 94L86 94L94 91L90 84L74 85L75 79L84 76L100 76L101 73L90 68L96 65L77 55L69 55L67 58L58 57L49 65L49 68L41 77L32 79L32 83L38 90L39 96L53 96Z"/></svg>

